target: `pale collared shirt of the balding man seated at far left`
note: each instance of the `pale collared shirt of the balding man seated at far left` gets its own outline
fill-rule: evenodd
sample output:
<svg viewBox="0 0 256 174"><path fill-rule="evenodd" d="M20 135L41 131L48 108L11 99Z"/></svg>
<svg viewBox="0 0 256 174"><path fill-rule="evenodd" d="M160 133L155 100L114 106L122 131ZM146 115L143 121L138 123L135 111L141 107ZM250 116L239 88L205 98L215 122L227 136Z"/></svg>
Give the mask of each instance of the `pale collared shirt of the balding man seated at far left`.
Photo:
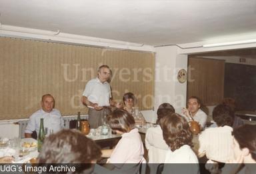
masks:
<svg viewBox="0 0 256 174"><path fill-rule="evenodd" d="M47 128L47 135L49 135L50 130L53 130L53 133L55 133L63 127L63 118L58 109L53 109L49 113L43 111L43 109L39 109L29 117L29 123L27 123L25 133L36 131L38 135L41 118L43 118L43 127Z"/></svg>

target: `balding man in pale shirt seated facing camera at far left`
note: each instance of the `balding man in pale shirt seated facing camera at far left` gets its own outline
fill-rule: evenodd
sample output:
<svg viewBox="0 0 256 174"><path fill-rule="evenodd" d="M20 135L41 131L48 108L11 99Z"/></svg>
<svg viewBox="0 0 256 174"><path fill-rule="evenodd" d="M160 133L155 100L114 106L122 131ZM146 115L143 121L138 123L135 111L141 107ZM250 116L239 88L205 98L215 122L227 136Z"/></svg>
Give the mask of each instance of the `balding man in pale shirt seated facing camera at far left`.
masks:
<svg viewBox="0 0 256 174"><path fill-rule="evenodd" d="M37 135L40 128L40 119L43 118L43 125L46 134L49 134L50 131L55 133L59 131L63 126L63 118L59 110L54 109L55 100L51 94L45 94L42 97L41 106L42 109L39 109L29 117L29 123L25 129L25 137L31 137L33 131L36 131Z"/></svg>

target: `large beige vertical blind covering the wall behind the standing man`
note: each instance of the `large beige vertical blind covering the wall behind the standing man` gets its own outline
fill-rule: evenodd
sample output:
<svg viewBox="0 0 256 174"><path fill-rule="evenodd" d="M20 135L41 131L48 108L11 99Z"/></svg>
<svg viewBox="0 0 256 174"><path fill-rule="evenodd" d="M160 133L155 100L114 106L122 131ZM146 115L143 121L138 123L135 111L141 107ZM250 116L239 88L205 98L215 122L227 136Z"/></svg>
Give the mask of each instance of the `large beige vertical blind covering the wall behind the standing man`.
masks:
<svg viewBox="0 0 256 174"><path fill-rule="evenodd" d="M153 107L153 53L0 37L0 59L0 119L29 117L45 93L55 97L62 115L87 113L81 94L102 64L113 72L114 99L131 91L141 109Z"/></svg>

